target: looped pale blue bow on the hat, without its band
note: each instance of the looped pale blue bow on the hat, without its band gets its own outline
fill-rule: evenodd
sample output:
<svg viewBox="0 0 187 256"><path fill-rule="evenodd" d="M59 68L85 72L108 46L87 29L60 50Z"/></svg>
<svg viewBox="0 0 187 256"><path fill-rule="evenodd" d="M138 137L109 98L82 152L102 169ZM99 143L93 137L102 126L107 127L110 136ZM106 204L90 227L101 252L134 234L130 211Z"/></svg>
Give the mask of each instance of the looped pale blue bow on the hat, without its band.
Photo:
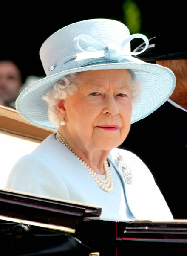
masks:
<svg viewBox="0 0 187 256"><path fill-rule="evenodd" d="M125 48L125 45L135 38L141 38L145 42L145 47L140 52L129 52ZM80 46L79 41L82 41L82 47ZM74 38L74 47L80 53L76 54L76 60L80 61L84 59L91 59L91 58L105 58L109 61L121 61L125 56L129 55L138 55L144 52L149 45L148 38L142 34L134 34L128 36L121 44L117 44L115 42L110 42L106 45L101 44L96 39L92 38L88 35L79 35L78 37Z"/></svg>

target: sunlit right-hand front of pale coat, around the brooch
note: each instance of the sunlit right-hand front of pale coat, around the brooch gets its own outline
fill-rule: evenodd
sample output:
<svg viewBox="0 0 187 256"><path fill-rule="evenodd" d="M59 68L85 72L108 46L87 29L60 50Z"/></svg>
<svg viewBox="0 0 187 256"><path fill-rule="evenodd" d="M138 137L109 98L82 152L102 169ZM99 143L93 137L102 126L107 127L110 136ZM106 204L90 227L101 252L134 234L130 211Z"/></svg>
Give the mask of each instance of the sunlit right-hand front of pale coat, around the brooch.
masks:
<svg viewBox="0 0 187 256"><path fill-rule="evenodd" d="M129 183L119 170L119 154L132 170L132 182ZM136 219L163 220L173 219L167 204L161 195L147 166L129 151L117 148L111 151L108 159L113 164L124 189L126 203Z"/></svg>

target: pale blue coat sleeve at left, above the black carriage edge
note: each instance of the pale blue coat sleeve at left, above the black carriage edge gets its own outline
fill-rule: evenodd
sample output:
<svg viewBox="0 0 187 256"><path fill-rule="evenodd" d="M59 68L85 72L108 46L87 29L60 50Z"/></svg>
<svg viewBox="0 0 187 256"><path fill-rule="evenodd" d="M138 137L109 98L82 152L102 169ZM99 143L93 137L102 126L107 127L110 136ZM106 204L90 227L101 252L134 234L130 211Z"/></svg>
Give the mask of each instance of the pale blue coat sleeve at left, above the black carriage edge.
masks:
<svg viewBox="0 0 187 256"><path fill-rule="evenodd" d="M18 160L8 176L5 188L53 198L70 198L62 177L46 158L34 153Z"/></svg>

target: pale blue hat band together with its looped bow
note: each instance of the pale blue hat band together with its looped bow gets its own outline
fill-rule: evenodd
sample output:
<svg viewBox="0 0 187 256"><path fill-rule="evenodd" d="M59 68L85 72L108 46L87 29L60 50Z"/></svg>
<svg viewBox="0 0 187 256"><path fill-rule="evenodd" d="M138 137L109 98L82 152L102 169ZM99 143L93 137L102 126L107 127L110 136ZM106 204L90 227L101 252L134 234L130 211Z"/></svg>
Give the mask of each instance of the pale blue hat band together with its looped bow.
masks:
<svg viewBox="0 0 187 256"><path fill-rule="evenodd" d="M145 42L145 47L140 52L130 52L129 49L125 47L127 43L135 38L141 38ZM51 74L68 70L69 68L73 69L88 65L94 63L95 60L96 62L104 62L106 60L120 62L125 58L125 56L138 55L146 51L149 45L149 40L145 35L134 34L125 38L121 44L110 42L104 45L91 36L81 34L74 38L73 44L78 53L74 52L68 54L59 64L48 67Z"/></svg>

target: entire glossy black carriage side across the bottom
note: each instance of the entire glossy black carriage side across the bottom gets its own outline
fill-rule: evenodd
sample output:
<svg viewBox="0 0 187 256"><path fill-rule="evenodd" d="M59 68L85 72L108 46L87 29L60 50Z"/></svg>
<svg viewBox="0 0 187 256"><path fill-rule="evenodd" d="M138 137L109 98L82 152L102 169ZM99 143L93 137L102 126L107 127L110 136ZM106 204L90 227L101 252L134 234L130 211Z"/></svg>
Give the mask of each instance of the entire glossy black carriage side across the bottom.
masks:
<svg viewBox="0 0 187 256"><path fill-rule="evenodd" d="M187 254L187 221L104 221L98 218L101 210L0 191L1 251L8 256L89 256L92 252L99 252L100 256ZM10 216L11 221L3 219ZM20 216L38 223L18 222L16 218ZM64 225L75 232L45 224Z"/></svg>

